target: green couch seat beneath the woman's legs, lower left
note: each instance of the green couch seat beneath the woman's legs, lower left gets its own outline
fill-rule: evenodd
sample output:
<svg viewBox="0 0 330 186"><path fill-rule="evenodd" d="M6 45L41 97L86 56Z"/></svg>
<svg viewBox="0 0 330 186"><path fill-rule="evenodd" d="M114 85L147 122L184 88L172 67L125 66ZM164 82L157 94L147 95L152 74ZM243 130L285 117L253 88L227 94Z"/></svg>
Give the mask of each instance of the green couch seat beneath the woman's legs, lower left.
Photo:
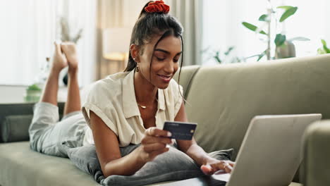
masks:
<svg viewBox="0 0 330 186"><path fill-rule="evenodd" d="M29 142L0 144L0 185L99 185L69 159L30 149Z"/></svg>

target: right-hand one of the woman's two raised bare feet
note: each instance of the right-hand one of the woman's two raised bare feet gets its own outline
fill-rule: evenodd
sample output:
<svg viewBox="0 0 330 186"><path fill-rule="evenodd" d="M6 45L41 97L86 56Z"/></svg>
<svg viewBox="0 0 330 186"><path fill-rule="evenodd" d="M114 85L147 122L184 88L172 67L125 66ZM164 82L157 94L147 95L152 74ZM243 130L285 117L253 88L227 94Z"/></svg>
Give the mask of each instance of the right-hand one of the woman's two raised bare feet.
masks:
<svg viewBox="0 0 330 186"><path fill-rule="evenodd" d="M69 71L78 69L78 56L73 42L63 42L61 49L68 60Z"/></svg>

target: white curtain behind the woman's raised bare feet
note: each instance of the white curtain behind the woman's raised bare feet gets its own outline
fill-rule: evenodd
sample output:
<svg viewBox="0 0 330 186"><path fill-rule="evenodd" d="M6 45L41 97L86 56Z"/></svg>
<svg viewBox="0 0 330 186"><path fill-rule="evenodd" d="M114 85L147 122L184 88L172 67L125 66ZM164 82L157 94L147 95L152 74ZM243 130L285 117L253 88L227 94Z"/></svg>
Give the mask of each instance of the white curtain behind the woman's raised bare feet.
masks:
<svg viewBox="0 0 330 186"><path fill-rule="evenodd" d="M54 51L59 37L59 18L83 29L78 42L80 85L95 79L95 11L89 0L0 1L0 84L30 85Z"/></svg>

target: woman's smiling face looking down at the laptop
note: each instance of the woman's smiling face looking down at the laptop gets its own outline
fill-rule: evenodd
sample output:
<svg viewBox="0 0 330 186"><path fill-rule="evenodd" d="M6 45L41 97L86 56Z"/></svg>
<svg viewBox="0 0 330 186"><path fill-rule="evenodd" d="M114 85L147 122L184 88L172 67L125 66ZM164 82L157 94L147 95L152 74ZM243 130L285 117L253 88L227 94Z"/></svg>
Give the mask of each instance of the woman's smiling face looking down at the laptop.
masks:
<svg viewBox="0 0 330 186"><path fill-rule="evenodd" d="M159 38L160 36L154 37L151 42L142 46L143 51L139 56L139 73L142 73L142 76L155 87L166 89L178 70L179 58L182 53L181 39L174 36L165 37L154 50L154 45ZM153 57L152 53L154 53ZM150 61L152 61L151 70L149 70Z"/></svg>

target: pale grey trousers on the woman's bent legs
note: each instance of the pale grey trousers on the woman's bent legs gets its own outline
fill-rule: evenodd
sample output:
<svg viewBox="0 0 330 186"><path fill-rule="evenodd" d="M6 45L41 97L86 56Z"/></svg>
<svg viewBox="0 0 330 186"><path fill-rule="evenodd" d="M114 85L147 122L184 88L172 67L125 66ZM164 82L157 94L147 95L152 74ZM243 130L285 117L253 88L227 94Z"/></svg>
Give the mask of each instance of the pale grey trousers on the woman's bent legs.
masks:
<svg viewBox="0 0 330 186"><path fill-rule="evenodd" d="M85 118L80 111L68 113L59 121L57 106L37 103L29 128L30 147L43 154L68 157L68 148L82 146L86 128Z"/></svg>

